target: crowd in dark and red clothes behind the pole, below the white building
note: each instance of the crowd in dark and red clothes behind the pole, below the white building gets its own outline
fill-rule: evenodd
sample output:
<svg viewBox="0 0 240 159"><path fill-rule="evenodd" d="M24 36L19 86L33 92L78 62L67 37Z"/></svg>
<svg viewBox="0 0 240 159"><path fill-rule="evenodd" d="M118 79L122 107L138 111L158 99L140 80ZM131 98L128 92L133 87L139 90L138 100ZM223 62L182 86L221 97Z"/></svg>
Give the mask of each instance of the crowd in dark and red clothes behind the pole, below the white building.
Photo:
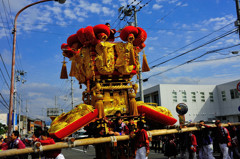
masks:
<svg viewBox="0 0 240 159"><path fill-rule="evenodd" d="M215 159L213 154L216 152L222 159L240 159L240 126L228 123L223 127L220 120L216 120L215 125L211 127L200 121L188 125L198 126L199 131L155 136L151 149L155 153L164 153L168 158ZM182 125L180 129L188 126Z"/></svg>

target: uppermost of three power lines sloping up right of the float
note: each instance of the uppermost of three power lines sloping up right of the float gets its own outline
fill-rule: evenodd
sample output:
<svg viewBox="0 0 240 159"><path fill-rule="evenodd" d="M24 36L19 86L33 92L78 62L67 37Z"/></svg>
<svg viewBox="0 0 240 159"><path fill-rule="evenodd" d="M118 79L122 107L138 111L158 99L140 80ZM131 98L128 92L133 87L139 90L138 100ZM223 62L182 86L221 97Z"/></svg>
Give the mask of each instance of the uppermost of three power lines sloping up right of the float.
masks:
<svg viewBox="0 0 240 159"><path fill-rule="evenodd" d="M164 56L162 56L162 57L160 57L160 58L157 58L156 60L153 60L153 61L149 62L149 64L154 63L154 62L156 62L156 61L158 61L158 60L160 60L160 59L162 59L162 58L164 58L164 57L167 57L167 56L169 56L169 55L172 55L172 54L176 53L177 51L182 50L182 49L184 49L184 48L186 48L186 47L188 47L188 46L190 46L190 45L192 45L192 44L194 44L194 43L196 43L196 42L198 42L198 41L200 41L200 40L202 40L202 39L204 39L204 38L206 38L206 37L208 37L208 36L210 36L210 35L212 35L213 33L218 32L218 31L226 28L227 26L229 26L229 25L231 25L231 24L233 24L233 22L231 22L231 23L229 23L229 24L221 27L220 29L215 30L215 31L213 31L213 32L211 32L211 33L209 33L209 34L207 34L207 35L205 35L205 36L203 36L203 37L201 37L201 38L199 38L199 39L197 39L197 40L195 40L195 41L193 41L193 42L191 42L191 43L189 43L189 44L187 44L187 45L185 45L185 46L183 46L183 47L181 47L181 48L179 48L179 49L177 49L177 50L174 50L173 52L171 52L171 53L169 53L169 54L167 54L167 55L164 55Z"/></svg>

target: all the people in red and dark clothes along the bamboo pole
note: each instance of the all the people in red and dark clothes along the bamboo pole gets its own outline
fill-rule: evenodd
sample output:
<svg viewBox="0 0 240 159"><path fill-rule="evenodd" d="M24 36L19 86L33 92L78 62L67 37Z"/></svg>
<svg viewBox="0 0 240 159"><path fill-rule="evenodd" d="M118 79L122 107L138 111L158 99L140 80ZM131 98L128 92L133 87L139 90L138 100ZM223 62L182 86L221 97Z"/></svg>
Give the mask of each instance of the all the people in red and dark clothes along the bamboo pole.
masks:
<svg viewBox="0 0 240 159"><path fill-rule="evenodd" d="M123 122L120 111L115 114L115 120L104 119L108 125L109 136L130 135L128 148L136 159L146 159L150 149L155 153L164 153L167 158L180 157L181 159L214 159L214 152L221 154L223 159L240 159L240 127L228 123L223 127L220 120L216 120L216 127L206 125L204 121L190 125L178 127L179 133L162 136L154 136L151 144L144 123L138 121L135 125L133 118L129 118L127 124ZM199 127L199 131L185 131L184 128L191 126ZM9 140L0 137L0 149L24 149L33 146L36 142L41 145L55 144L49 137L47 131L37 129L31 140L21 140L18 131L13 131ZM150 147L151 145L151 147ZM32 158L64 159L61 150L44 151L43 153L33 153ZM13 158L12 156L10 158ZM14 156L14 158L24 159L26 155Z"/></svg>

